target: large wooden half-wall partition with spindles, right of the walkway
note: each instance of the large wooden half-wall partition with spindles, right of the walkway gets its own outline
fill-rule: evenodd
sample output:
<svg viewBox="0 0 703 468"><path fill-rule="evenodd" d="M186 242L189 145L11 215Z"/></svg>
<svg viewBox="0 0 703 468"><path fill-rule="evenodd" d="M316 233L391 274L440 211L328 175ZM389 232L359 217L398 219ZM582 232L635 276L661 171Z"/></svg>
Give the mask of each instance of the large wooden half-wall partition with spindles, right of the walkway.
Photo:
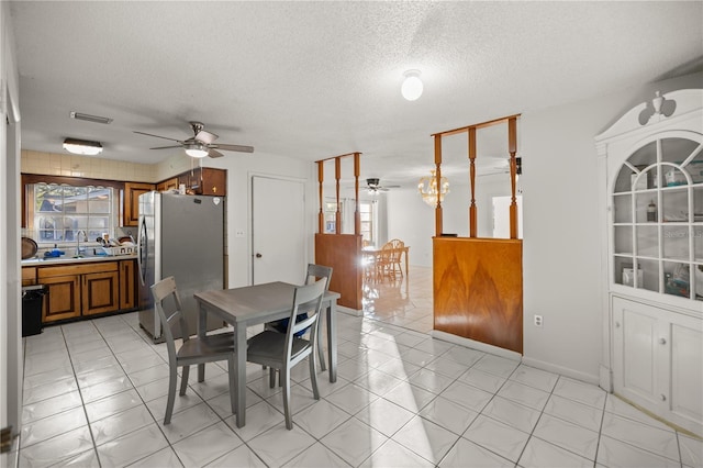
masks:
<svg viewBox="0 0 703 468"><path fill-rule="evenodd" d="M442 178L442 138L468 137L471 187L469 237L443 237L442 201L435 208L433 238L434 328L515 353L523 353L523 246L517 238L515 176L517 161L517 118L503 119L432 135L435 146L437 187ZM477 130L507 124L512 199L510 238L477 237L476 205Z"/></svg>

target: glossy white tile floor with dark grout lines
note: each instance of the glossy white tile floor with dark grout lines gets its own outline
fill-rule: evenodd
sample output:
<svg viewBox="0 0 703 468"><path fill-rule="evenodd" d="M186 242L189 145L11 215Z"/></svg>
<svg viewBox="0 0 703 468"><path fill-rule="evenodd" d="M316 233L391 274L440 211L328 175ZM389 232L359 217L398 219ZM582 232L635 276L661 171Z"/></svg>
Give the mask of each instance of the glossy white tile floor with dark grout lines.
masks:
<svg viewBox="0 0 703 468"><path fill-rule="evenodd" d="M433 339L428 269L367 285L365 316L339 315L339 378L310 391L298 366L294 428L279 389L248 368L247 425L225 370L208 367L161 424L164 345L136 313L26 338L20 466L702 467L703 442L594 387Z"/></svg>

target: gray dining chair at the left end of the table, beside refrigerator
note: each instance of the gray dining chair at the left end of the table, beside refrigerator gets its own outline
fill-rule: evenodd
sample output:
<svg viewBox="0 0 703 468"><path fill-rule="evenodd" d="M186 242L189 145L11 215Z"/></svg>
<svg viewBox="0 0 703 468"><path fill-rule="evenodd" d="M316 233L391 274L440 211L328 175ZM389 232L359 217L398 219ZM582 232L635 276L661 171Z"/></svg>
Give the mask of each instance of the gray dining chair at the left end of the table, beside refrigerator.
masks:
<svg viewBox="0 0 703 468"><path fill-rule="evenodd" d="M226 360L230 371L230 401L232 412L234 413L236 387L234 385L235 355L232 334L208 335L205 339L200 339L198 336L189 336L186 332L188 328L186 317L183 316L180 294L176 288L176 279L172 276L152 286L152 294L154 296L156 312L161 320L164 335L166 337L166 348L168 349L168 402L166 404L164 425L170 424L171 422L179 367L182 367L180 395L185 395L186 389L188 388L190 366L204 366L205 363ZM178 349L176 349L174 328L178 328L176 336L182 338L182 344ZM203 379L204 372L199 372L198 380L202 381Z"/></svg>

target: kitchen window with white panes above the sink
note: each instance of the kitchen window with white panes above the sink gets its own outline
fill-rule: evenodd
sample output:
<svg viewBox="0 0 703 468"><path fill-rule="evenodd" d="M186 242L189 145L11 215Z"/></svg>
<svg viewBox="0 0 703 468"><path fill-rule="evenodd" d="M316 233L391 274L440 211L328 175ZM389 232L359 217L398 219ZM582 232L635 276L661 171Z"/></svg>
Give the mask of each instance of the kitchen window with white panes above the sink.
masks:
<svg viewBox="0 0 703 468"><path fill-rule="evenodd" d="M27 229L40 245L94 242L103 233L114 232L119 214L119 191L114 188L56 183L25 187Z"/></svg>

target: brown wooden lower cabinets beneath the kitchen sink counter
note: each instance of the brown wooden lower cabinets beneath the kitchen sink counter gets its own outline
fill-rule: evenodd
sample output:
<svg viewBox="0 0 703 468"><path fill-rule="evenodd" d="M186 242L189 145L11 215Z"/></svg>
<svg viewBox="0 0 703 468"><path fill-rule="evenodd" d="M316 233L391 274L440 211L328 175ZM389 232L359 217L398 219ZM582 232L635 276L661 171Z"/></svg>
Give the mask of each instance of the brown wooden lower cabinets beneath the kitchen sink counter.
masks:
<svg viewBox="0 0 703 468"><path fill-rule="evenodd" d="M134 309L135 261L108 260L34 268L36 282L46 287L42 322ZM26 276L30 275L27 268Z"/></svg>

